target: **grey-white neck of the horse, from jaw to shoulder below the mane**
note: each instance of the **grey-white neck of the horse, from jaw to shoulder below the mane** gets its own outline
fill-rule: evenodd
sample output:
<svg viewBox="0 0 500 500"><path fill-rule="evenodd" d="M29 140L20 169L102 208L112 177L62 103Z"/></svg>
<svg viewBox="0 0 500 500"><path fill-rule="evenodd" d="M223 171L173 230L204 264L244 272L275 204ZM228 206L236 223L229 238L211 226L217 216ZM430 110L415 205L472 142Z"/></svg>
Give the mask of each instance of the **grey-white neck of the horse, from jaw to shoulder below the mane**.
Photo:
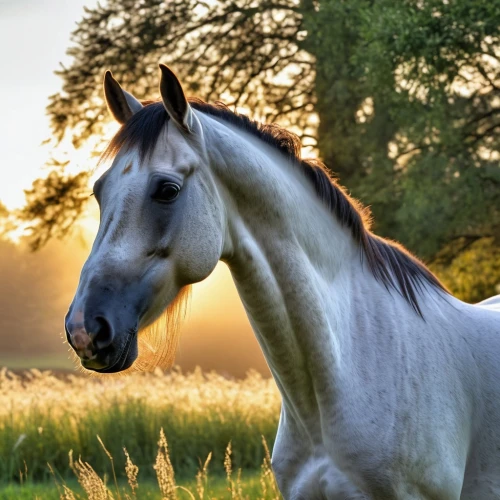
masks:
<svg viewBox="0 0 500 500"><path fill-rule="evenodd" d="M228 212L224 259L284 405L307 428L320 394L335 391L360 249L298 169L252 137L230 137L210 148Z"/></svg>

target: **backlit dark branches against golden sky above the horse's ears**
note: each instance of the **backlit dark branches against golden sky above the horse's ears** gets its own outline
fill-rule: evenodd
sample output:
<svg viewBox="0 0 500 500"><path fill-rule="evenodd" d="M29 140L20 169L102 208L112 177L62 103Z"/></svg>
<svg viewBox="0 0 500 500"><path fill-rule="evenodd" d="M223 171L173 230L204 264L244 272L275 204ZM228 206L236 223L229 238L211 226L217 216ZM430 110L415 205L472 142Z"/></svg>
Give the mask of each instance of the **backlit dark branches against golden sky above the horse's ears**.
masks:
<svg viewBox="0 0 500 500"><path fill-rule="evenodd" d="M197 96L224 98L268 121L294 114L297 130L307 130L314 63L300 48L304 37L297 0L108 0L85 9L73 33L73 63L58 72L62 91L48 106L54 134L70 132L79 146L102 133L105 69L156 98L160 60Z"/></svg>

